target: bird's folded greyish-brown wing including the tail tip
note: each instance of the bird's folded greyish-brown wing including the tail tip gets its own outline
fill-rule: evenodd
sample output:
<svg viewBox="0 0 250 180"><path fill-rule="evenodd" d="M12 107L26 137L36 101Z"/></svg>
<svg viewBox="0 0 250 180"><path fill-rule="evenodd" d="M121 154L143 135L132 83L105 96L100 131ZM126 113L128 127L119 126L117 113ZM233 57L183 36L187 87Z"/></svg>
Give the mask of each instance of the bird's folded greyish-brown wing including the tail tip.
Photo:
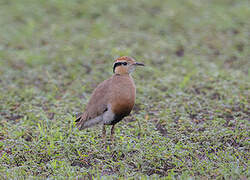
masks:
<svg viewBox="0 0 250 180"><path fill-rule="evenodd" d="M83 114L76 118L79 129L84 129L85 122L100 116L108 110L108 97L111 79L107 79L99 84L91 95Z"/></svg>

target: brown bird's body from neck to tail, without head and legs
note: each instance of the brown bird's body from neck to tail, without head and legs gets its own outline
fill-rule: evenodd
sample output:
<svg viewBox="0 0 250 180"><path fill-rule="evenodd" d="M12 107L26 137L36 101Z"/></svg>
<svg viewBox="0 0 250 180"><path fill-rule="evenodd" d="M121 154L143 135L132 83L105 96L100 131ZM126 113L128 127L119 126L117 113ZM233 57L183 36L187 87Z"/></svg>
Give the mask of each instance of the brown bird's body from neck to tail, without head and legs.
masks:
<svg viewBox="0 0 250 180"><path fill-rule="evenodd" d="M119 122L133 109L135 94L135 85L130 75L115 74L103 81L92 93L85 112L77 119L79 128ZM104 113L106 119L103 118Z"/></svg>

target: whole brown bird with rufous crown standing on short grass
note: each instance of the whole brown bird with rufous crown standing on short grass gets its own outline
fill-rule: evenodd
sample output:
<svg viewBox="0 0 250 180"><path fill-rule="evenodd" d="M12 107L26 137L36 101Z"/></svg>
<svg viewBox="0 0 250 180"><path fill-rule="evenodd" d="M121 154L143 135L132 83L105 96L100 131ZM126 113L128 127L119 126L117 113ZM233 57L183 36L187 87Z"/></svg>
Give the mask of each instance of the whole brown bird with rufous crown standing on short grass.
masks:
<svg viewBox="0 0 250 180"><path fill-rule="evenodd" d="M102 124L102 137L105 141L105 125L112 125L110 137L111 141L114 141L115 124L128 116L134 107L136 87L130 74L136 66L144 66L144 64L128 56L115 60L114 75L97 86L85 112L76 118L80 130Z"/></svg>

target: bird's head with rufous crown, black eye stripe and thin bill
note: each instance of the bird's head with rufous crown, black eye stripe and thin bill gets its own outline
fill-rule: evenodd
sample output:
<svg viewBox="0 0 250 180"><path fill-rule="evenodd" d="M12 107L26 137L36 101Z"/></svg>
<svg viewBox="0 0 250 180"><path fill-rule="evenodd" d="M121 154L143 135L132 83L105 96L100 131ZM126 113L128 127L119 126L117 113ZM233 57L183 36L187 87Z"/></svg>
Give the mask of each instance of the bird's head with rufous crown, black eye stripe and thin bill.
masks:
<svg viewBox="0 0 250 180"><path fill-rule="evenodd" d="M130 74L136 66L144 66L143 63L136 62L132 57L122 56L115 60L113 72L115 74Z"/></svg>

